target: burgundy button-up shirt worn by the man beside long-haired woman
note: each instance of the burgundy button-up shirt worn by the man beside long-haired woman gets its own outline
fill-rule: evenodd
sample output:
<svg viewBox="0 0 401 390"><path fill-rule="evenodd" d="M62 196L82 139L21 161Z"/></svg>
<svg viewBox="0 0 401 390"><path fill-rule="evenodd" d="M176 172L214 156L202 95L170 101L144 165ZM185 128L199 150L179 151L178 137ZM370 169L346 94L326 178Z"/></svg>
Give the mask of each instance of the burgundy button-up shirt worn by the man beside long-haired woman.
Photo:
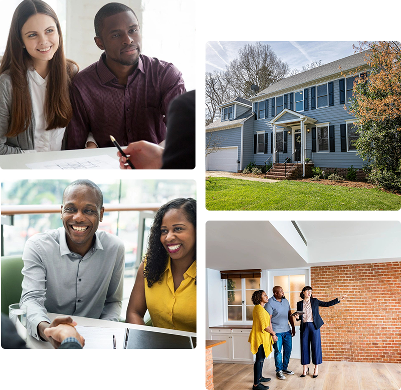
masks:
<svg viewBox="0 0 401 390"><path fill-rule="evenodd" d="M123 86L105 65L104 56L73 79L67 149L85 148L89 132L99 147L114 146L110 135L121 146L142 139L163 141L169 103L185 92L181 72L168 62L141 54Z"/></svg>

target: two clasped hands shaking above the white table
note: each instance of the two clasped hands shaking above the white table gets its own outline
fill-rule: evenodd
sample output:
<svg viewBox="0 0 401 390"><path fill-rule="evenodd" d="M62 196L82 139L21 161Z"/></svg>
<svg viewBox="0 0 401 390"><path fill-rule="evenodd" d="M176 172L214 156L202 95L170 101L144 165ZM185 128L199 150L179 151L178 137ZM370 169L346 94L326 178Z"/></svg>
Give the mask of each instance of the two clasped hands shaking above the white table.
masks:
<svg viewBox="0 0 401 390"><path fill-rule="evenodd" d="M68 337L74 337L83 347L85 339L75 329L77 323L68 316L56 317L51 324L42 321L38 325L40 336L49 341L56 349Z"/></svg>

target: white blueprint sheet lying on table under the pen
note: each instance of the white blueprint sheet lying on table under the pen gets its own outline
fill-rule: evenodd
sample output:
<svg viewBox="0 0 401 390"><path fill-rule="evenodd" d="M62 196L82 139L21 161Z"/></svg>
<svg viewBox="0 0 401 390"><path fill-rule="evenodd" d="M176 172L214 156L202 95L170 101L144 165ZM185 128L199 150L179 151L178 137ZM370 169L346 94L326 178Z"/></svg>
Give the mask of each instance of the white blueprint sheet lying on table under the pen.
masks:
<svg viewBox="0 0 401 390"><path fill-rule="evenodd" d="M118 160L107 154L93 157L34 162L25 165L30 169L120 169Z"/></svg>

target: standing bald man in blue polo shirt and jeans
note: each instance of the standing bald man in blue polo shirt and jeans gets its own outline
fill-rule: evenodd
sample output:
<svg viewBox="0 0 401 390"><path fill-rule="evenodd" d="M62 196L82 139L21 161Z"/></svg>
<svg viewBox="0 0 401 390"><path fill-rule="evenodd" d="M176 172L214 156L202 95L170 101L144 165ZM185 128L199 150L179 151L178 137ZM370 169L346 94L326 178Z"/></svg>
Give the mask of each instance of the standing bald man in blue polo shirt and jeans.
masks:
<svg viewBox="0 0 401 390"><path fill-rule="evenodd" d="M295 336L295 325L294 317L291 317L290 303L284 297L284 291L280 286L273 287L273 296L269 298L265 309L270 314L270 322L278 338L273 344L276 376L279 379L285 379L284 374L294 375L294 371L288 370L287 367L292 349L291 337ZM290 321L291 330L288 321ZM283 348L283 357L281 348Z"/></svg>

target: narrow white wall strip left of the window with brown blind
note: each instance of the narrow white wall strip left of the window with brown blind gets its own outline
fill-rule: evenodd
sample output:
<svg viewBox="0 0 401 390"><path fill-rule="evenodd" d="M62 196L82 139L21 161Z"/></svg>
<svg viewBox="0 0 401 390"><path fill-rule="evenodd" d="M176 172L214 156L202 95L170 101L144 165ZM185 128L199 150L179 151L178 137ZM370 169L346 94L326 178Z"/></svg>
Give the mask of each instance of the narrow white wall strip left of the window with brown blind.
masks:
<svg viewBox="0 0 401 390"><path fill-rule="evenodd" d="M209 327L223 324L223 291L220 271L206 269L206 337Z"/></svg>

